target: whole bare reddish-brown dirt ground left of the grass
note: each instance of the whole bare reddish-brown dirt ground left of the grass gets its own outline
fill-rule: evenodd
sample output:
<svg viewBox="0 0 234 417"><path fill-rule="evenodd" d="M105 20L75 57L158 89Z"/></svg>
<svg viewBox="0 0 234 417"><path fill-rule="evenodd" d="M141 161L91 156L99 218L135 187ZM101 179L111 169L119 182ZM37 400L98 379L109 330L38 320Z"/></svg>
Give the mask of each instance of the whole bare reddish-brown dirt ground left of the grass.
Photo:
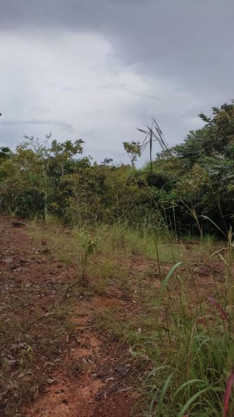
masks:
<svg viewBox="0 0 234 417"><path fill-rule="evenodd" d="M97 316L135 306L119 293L64 306L72 270L26 227L0 221L1 416L131 416L136 362L128 346L101 331Z"/></svg>

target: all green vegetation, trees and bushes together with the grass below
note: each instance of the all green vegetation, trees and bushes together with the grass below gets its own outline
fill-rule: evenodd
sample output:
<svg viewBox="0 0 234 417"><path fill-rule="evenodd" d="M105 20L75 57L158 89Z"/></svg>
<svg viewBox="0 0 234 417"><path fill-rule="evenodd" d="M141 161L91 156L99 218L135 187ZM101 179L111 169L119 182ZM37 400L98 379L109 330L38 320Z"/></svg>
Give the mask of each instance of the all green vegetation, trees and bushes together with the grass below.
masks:
<svg viewBox="0 0 234 417"><path fill-rule="evenodd" d="M145 416L234 412L234 101L200 117L203 128L173 148L153 120L142 144L124 142L131 165L92 163L83 140L49 145L50 135L0 152L1 212L42 220L33 236L46 236L75 271L60 298L114 286L137 305L128 317L96 319L147 369ZM148 145L149 163L137 170ZM133 268L136 259L144 268ZM23 362L32 355L29 344L21 350Z"/></svg>

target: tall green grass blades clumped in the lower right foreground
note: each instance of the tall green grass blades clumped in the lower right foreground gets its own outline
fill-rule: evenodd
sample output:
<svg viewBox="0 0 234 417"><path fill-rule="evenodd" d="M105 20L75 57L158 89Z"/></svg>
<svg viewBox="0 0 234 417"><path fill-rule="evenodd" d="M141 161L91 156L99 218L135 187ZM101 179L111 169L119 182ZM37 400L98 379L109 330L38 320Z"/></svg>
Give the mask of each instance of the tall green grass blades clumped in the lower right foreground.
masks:
<svg viewBox="0 0 234 417"><path fill-rule="evenodd" d="M218 294L219 302L212 294L201 302L197 288L197 309L192 309L186 298L186 289L182 285L181 296L172 304L167 293L169 274L163 281L162 288L166 297L162 300L162 294L159 295L162 320L158 320L160 313L157 309L158 325L155 329L160 341L160 354L151 357L155 366L145 382L150 400L147 416L234 415L234 398L231 392L234 382L231 230L226 238L226 247L215 252L225 267L225 291ZM171 275L177 266L174 265ZM177 275L177 279L179 278ZM217 288L217 283L215 286ZM165 333L169 337L166 338ZM163 346L166 341L167 347Z"/></svg>

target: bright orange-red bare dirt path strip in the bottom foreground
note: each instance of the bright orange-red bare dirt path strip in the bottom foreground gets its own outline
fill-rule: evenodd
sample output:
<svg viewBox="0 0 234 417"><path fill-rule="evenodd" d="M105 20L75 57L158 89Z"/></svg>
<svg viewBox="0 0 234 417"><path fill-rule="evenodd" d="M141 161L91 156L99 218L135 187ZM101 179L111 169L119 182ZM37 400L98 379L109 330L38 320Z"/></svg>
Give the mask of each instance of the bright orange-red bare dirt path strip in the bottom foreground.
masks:
<svg viewBox="0 0 234 417"><path fill-rule="evenodd" d="M130 416L137 398L131 384L131 363L122 345L106 341L92 326L94 316L118 305L116 300L93 297L76 306L73 321L78 336L69 341L64 366L53 374L45 395L26 409L27 417ZM122 308L122 304L119 305ZM133 381L132 381L133 383Z"/></svg>

